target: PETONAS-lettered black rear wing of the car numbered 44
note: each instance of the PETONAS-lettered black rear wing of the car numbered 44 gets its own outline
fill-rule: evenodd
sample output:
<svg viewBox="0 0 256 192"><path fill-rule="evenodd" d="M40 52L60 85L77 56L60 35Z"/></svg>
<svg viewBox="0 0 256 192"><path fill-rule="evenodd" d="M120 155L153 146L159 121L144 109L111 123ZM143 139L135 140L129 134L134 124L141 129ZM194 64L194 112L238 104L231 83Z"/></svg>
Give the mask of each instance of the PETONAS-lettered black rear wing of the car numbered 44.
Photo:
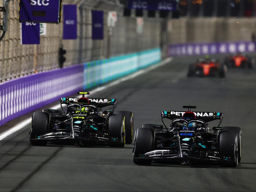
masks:
<svg viewBox="0 0 256 192"><path fill-rule="evenodd" d="M73 97L62 97L61 98L61 104L69 105L71 103L78 103L79 98L73 98ZM104 99L104 98L89 98L88 99L90 104L96 105L97 107L108 107L113 105L115 109L117 105L117 99Z"/></svg>

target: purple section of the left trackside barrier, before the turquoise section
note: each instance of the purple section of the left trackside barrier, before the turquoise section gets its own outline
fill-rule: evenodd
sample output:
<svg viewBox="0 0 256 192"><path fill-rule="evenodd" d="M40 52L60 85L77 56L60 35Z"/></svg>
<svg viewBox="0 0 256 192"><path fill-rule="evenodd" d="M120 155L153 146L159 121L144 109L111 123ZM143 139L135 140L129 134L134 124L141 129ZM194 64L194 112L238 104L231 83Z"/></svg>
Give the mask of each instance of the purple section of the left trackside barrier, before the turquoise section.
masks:
<svg viewBox="0 0 256 192"><path fill-rule="evenodd" d="M83 65L29 75L0 84L0 126L83 86Z"/></svg>

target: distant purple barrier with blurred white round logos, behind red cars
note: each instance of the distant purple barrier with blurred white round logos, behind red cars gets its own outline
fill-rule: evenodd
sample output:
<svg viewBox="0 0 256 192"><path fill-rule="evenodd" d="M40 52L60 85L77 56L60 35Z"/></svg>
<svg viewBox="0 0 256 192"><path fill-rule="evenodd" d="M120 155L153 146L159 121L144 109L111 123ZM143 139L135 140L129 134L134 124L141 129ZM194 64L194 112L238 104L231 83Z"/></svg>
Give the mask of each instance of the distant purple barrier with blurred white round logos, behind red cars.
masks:
<svg viewBox="0 0 256 192"><path fill-rule="evenodd" d="M256 42L185 43L169 46L169 56L254 52Z"/></svg>

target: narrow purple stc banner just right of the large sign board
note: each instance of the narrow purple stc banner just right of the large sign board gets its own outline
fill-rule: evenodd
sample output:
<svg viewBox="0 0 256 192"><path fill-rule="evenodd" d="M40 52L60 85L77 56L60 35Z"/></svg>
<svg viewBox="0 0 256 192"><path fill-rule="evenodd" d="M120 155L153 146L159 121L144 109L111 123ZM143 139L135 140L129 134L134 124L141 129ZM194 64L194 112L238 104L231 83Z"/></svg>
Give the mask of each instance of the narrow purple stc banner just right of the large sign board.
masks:
<svg viewBox="0 0 256 192"><path fill-rule="evenodd" d="M63 39L77 39L77 5L63 5Z"/></svg>

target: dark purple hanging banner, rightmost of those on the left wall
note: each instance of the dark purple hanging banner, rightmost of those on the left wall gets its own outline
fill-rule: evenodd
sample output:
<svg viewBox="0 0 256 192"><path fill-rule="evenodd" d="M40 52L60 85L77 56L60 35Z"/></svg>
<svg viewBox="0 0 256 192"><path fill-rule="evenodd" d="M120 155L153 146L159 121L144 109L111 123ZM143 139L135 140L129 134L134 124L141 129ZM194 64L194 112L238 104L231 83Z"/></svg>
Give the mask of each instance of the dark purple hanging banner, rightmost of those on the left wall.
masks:
<svg viewBox="0 0 256 192"><path fill-rule="evenodd" d="M102 40L104 39L104 17L103 11L91 11L92 14L92 39Z"/></svg>

